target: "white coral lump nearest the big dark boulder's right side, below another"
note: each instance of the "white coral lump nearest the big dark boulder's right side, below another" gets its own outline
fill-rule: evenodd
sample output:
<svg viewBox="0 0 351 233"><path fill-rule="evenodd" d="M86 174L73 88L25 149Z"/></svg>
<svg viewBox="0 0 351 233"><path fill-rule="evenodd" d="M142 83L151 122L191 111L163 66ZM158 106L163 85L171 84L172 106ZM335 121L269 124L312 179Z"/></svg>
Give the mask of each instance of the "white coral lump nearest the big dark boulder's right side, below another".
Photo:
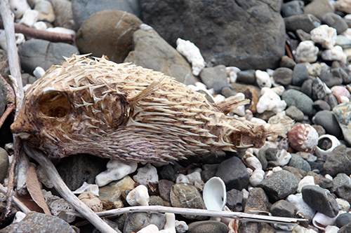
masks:
<svg viewBox="0 0 351 233"><path fill-rule="evenodd" d="M310 31L311 40L320 43L324 48L331 49L336 43L336 29L322 24Z"/></svg>

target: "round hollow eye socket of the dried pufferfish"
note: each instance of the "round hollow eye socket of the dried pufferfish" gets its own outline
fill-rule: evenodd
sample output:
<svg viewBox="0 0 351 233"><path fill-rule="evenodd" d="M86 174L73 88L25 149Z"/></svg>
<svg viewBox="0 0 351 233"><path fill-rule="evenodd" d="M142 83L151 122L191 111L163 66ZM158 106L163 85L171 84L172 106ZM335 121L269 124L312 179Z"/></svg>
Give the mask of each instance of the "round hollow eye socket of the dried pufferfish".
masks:
<svg viewBox="0 0 351 233"><path fill-rule="evenodd" d="M70 105L62 92L52 90L44 93L39 99L41 113L52 118L62 118L67 115Z"/></svg>

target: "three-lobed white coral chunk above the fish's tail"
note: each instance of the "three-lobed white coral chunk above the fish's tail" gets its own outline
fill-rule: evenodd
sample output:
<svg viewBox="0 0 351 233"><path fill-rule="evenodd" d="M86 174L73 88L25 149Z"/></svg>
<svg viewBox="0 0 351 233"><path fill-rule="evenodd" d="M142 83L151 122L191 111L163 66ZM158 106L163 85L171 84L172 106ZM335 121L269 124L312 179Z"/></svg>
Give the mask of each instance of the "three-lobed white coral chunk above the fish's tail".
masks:
<svg viewBox="0 0 351 233"><path fill-rule="evenodd" d="M264 111L273 111L274 113L279 113L286 108L286 102L280 99L279 95L273 92L268 87L263 87L261 89L262 96L257 103L257 112L263 113Z"/></svg>

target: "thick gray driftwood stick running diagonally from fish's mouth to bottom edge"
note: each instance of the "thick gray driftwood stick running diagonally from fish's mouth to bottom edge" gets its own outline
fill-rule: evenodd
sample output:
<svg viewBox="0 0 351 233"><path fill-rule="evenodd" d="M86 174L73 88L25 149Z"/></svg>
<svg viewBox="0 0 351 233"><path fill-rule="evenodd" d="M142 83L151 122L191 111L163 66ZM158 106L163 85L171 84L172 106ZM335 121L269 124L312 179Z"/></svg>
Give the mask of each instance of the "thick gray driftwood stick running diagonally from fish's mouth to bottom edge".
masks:
<svg viewBox="0 0 351 233"><path fill-rule="evenodd" d="M74 206L74 209L79 211L84 218L86 218L91 224L93 224L100 232L102 233L116 233L110 227L105 223L99 216L96 215L86 204L81 202L81 200L76 197L72 193L71 190L67 187L65 182L62 181L62 178L60 177L60 174L58 174L58 171L56 170L55 166L51 162L51 160L46 157L44 152L41 150L37 150L34 148L31 148L27 146L27 144L23 143L23 148L25 148L25 153L32 157L34 160L37 160L37 162L41 165L41 167L44 169L44 172L46 176L49 178L51 183L53 183L53 186L55 187L55 190L60 193L60 195L72 206Z"/></svg>

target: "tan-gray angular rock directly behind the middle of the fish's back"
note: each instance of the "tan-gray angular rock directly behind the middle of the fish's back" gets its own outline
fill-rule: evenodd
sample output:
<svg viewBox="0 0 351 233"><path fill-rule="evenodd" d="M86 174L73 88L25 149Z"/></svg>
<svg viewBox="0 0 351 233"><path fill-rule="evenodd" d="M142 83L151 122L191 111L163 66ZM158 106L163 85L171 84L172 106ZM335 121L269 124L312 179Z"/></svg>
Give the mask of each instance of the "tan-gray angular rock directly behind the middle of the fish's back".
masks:
<svg viewBox="0 0 351 233"><path fill-rule="evenodd" d="M133 33L133 46L124 62L160 71L185 85L195 83L192 67L187 60L145 24Z"/></svg>

